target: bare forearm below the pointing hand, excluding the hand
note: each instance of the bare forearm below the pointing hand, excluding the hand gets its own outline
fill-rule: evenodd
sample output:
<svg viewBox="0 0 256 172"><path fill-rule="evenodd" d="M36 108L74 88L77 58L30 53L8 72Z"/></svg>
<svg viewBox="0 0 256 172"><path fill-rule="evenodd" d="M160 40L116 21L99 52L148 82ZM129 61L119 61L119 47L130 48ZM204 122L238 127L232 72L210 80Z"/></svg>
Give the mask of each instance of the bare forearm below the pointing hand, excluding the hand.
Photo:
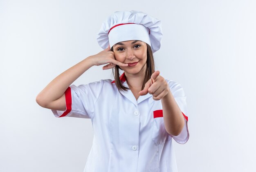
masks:
<svg viewBox="0 0 256 172"><path fill-rule="evenodd" d="M168 134L177 136L184 127L184 117L171 91L162 99L164 126Z"/></svg>

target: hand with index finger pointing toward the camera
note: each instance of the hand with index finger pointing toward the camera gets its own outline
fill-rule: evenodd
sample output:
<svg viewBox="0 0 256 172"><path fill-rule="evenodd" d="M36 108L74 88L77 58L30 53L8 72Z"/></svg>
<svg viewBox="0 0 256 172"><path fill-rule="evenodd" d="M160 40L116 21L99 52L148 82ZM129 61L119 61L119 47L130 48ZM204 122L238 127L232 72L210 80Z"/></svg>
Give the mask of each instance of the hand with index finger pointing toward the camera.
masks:
<svg viewBox="0 0 256 172"><path fill-rule="evenodd" d="M166 96L168 92L170 92L170 88L168 87L166 80L159 74L159 71L155 71L151 75L150 80L146 82L144 89L139 92L140 96L149 93L153 95L153 99L155 101L159 101Z"/></svg>

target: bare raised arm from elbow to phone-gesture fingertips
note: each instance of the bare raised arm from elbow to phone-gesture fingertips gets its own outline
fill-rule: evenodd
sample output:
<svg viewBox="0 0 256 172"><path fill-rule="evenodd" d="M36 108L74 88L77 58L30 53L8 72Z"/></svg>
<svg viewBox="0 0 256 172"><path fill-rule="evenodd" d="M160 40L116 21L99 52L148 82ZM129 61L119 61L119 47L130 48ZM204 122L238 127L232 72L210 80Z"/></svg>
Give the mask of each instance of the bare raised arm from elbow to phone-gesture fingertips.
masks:
<svg viewBox="0 0 256 172"><path fill-rule="evenodd" d="M54 78L36 96L38 105L48 109L65 110L65 91L79 76L94 65L105 65L103 66L103 70L111 69L115 65L128 66L128 64L115 60L114 52L110 51L110 47L108 47L98 54L85 58Z"/></svg>

